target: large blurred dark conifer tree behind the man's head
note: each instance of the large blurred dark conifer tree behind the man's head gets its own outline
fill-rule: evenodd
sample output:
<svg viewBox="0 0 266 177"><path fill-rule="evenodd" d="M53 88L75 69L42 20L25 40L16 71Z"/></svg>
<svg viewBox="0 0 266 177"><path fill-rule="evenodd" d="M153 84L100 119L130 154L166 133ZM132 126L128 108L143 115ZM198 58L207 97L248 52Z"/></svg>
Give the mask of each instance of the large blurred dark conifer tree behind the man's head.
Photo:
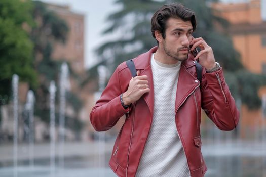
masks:
<svg viewBox="0 0 266 177"><path fill-rule="evenodd" d="M117 33L120 37L107 41L96 50L100 63L112 66L110 72L113 72L121 62L134 58L155 46L156 40L150 32L151 16L163 4L171 2L173 1L115 1L122 8L108 16L107 21L110 26L103 31L103 34ZM234 91L232 92L233 96L241 98L242 102L250 109L258 108L261 101L257 90L261 85L266 84L266 78L262 75L258 77L258 75L245 70L240 62L239 54L233 47L231 38L215 29L215 25L226 28L229 23L225 19L215 16L208 6L213 1L199 0L195 3L193 0L181 0L178 2L195 11L197 29L193 35L194 37L203 37L212 47L215 59L227 72L226 79L232 81L229 86ZM92 72L89 73L92 74ZM250 78L252 78L252 84ZM244 82L244 80L249 80L249 82ZM247 85L249 85L248 90Z"/></svg>

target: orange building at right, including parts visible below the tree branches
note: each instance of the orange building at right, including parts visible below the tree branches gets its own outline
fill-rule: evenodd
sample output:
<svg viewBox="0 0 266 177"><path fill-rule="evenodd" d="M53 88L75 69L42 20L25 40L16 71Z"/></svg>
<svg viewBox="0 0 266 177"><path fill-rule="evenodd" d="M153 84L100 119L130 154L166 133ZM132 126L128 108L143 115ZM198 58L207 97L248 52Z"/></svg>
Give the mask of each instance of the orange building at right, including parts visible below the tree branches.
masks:
<svg viewBox="0 0 266 177"><path fill-rule="evenodd" d="M266 74L266 0L214 3L212 8L230 22L226 32L232 37L245 68ZM266 89L261 89L260 96L264 94ZM240 129L243 138L254 138L253 132L263 126L266 126L266 118L261 110L250 111L242 106Z"/></svg>

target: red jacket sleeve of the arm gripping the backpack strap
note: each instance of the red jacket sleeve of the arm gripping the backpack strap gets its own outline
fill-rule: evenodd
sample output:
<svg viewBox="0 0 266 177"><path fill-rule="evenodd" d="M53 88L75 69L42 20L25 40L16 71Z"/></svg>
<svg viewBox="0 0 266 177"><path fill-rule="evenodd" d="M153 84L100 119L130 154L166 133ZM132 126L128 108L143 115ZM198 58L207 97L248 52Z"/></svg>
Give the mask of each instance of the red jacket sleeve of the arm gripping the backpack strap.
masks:
<svg viewBox="0 0 266 177"><path fill-rule="evenodd" d="M130 108L124 109L120 102L122 94L118 68L112 74L100 99L92 108L90 121L96 131L106 131L117 123Z"/></svg>

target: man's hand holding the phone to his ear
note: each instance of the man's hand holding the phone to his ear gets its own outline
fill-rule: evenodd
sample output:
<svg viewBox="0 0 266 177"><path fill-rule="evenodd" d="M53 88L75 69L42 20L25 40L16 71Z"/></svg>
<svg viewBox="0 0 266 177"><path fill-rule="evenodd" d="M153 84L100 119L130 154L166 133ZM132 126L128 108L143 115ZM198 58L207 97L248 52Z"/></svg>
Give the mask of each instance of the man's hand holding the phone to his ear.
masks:
<svg viewBox="0 0 266 177"><path fill-rule="evenodd" d="M191 48L192 51L196 47L199 47L201 49L198 55L196 55L196 57L194 58L194 60L197 60L198 58L200 59L199 63L201 64L201 66L205 67L206 69L211 69L216 66L212 48L208 46L203 38L192 38L190 45L193 45Z"/></svg>

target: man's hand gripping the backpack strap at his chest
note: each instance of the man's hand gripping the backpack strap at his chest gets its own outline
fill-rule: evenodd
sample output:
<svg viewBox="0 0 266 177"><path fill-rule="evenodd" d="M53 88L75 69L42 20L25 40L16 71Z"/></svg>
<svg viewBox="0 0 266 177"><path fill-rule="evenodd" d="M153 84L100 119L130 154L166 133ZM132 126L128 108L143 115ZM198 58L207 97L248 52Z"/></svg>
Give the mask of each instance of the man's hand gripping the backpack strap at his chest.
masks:
<svg viewBox="0 0 266 177"><path fill-rule="evenodd" d="M129 81L128 90L122 96L125 105L130 105L131 103L140 99L143 94L149 92L148 76L138 75L139 71L137 71L137 76L134 78L132 77L132 79Z"/></svg>

